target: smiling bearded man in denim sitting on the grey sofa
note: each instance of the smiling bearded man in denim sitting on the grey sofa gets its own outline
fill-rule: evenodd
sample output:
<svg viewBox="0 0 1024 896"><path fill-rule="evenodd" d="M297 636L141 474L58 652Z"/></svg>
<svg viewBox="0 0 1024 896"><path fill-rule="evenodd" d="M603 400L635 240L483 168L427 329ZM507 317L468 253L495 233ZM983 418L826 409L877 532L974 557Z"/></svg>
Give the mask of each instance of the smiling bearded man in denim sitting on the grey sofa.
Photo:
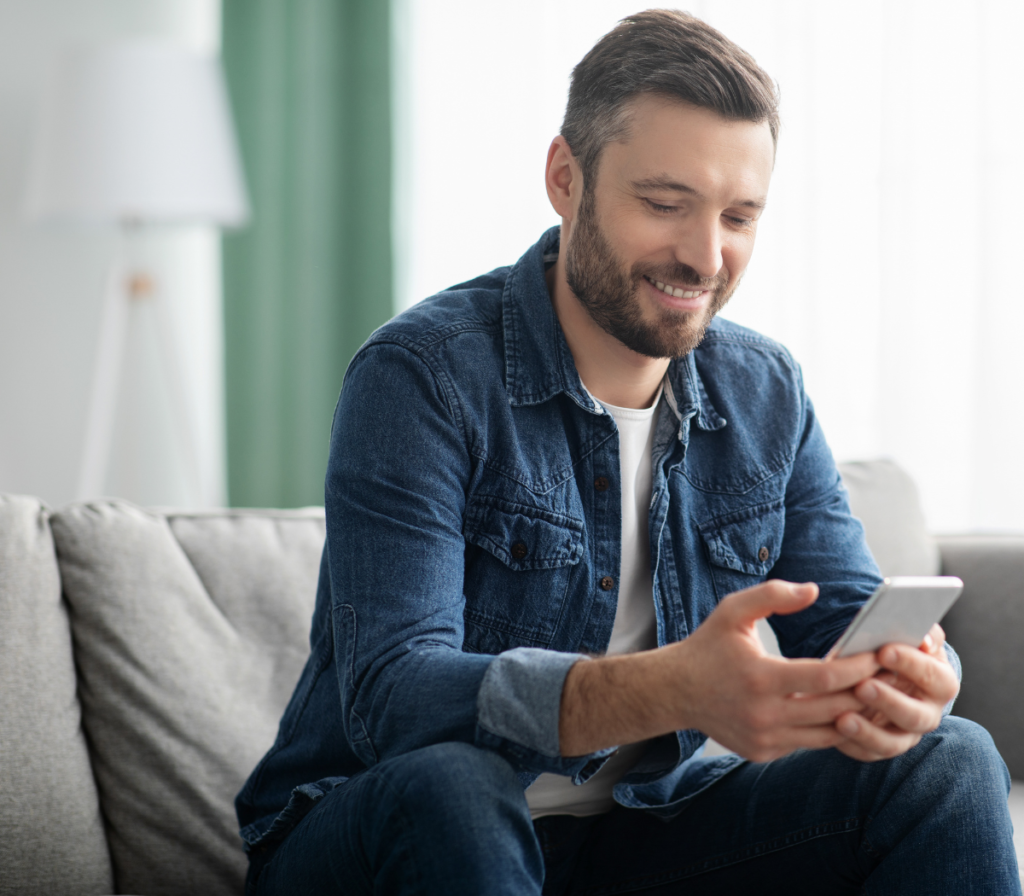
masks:
<svg viewBox="0 0 1024 896"><path fill-rule="evenodd" d="M814 658L878 569L799 369L713 323L777 132L722 35L624 20L548 154L561 227L352 361L250 892L1020 892L941 629Z"/></svg>

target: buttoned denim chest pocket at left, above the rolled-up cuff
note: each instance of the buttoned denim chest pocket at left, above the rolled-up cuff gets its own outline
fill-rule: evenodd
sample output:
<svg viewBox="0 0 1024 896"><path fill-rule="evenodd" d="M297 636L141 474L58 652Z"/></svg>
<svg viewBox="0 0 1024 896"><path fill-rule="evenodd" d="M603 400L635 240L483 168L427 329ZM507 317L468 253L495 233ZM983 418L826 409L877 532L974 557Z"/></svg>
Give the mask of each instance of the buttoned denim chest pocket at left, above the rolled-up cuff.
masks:
<svg viewBox="0 0 1024 896"><path fill-rule="evenodd" d="M547 647L572 567L583 556L583 523L499 498L466 508L464 648L500 653Z"/></svg>

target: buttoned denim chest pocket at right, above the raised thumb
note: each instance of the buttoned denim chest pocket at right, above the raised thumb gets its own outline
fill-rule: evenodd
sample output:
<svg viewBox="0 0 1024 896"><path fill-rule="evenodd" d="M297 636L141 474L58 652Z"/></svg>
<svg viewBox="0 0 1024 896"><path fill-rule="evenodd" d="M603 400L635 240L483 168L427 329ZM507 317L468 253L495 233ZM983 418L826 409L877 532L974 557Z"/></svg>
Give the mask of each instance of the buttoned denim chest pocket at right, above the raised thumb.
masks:
<svg viewBox="0 0 1024 896"><path fill-rule="evenodd" d="M781 501L744 508L700 526L719 600L764 582L782 550L784 529Z"/></svg>

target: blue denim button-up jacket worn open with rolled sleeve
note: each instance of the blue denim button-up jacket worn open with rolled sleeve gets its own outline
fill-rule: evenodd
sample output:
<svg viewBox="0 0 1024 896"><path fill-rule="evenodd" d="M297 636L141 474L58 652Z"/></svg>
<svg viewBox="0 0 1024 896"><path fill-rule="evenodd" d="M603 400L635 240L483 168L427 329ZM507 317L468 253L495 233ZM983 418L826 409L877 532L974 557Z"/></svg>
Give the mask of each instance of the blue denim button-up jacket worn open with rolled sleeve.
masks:
<svg viewBox="0 0 1024 896"><path fill-rule="evenodd" d="M563 757L562 683L603 653L621 543L614 421L584 389L545 283L549 230L512 267L378 330L352 360L326 483L310 656L276 742L237 800L247 849L283 838L340 781L460 740L523 785L590 777L612 751ZM649 510L659 644L765 579L820 597L771 625L820 656L881 581L801 372L777 343L716 319L669 367ZM741 760L705 735L656 738L616 785L675 814Z"/></svg>

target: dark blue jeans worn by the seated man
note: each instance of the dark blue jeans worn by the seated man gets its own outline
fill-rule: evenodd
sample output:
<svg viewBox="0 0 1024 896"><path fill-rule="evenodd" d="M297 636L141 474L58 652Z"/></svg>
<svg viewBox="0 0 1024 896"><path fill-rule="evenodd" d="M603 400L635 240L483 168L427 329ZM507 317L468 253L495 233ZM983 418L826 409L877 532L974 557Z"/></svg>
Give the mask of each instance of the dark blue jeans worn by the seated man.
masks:
<svg viewBox="0 0 1024 896"><path fill-rule="evenodd" d="M835 750L745 763L671 820L616 807L530 822L496 754L442 743L324 797L247 894L1020 893L1010 777L988 733L947 717L904 756Z"/></svg>

